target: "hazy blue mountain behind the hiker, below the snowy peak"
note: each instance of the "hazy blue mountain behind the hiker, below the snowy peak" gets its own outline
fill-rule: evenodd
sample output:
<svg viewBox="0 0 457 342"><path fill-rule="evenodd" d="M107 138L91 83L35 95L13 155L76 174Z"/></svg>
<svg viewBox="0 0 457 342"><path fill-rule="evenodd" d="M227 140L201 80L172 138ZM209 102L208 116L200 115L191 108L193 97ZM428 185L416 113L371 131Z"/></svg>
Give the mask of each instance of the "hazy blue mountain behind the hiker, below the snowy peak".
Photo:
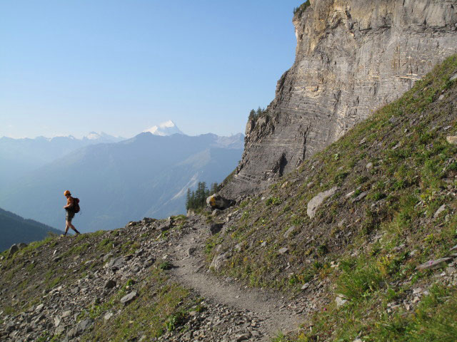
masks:
<svg viewBox="0 0 457 342"><path fill-rule="evenodd" d="M188 187L224 180L241 158L242 142L242 135L141 133L122 142L87 146L0 187L0 205L62 227L62 194L69 189L81 199L81 213L74 221L81 232L183 214Z"/></svg>

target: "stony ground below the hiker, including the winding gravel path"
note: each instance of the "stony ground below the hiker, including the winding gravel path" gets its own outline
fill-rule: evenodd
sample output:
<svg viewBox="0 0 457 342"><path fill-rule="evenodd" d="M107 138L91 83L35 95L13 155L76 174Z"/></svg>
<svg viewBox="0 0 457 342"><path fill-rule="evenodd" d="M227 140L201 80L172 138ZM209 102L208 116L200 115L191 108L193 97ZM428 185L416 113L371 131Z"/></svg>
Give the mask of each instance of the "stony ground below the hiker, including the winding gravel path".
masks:
<svg viewBox="0 0 457 342"><path fill-rule="evenodd" d="M209 271L211 227L197 216L144 219L4 252L0 340L271 341L296 330L309 310L305 299ZM170 311L151 333L151 312L164 300L159 316L172 306L166 291L174 284L188 293L175 305L184 314L178 319Z"/></svg>

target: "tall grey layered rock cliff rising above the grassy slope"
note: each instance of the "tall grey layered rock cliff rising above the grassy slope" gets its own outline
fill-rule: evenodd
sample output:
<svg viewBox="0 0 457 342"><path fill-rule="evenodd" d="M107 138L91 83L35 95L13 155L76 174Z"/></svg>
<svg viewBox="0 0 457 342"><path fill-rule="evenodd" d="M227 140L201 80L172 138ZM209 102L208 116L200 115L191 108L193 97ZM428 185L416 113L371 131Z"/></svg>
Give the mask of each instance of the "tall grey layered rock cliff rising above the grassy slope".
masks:
<svg viewBox="0 0 457 342"><path fill-rule="evenodd" d="M311 0L293 24L296 61L248 121L228 197L267 187L457 51L456 0Z"/></svg>

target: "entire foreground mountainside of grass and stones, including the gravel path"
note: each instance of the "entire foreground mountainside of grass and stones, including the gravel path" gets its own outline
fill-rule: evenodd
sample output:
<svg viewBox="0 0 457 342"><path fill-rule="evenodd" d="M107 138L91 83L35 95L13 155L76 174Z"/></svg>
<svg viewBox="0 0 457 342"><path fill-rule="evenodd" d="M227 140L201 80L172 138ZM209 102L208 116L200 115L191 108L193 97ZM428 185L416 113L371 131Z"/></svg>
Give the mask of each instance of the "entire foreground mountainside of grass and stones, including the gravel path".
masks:
<svg viewBox="0 0 457 342"><path fill-rule="evenodd" d="M457 55L234 207L1 253L1 341L455 341L456 99Z"/></svg>

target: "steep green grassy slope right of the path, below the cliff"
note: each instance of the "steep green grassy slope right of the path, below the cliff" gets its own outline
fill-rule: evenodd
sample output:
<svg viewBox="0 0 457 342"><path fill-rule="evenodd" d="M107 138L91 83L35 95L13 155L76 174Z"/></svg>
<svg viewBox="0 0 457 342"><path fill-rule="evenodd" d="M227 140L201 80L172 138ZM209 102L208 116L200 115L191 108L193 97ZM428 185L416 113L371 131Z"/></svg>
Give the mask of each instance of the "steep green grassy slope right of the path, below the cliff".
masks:
<svg viewBox="0 0 457 342"><path fill-rule="evenodd" d="M457 81L449 81L456 72L452 56L281 183L232 209L241 218L209 241L209 260L231 256L221 274L251 286L298 293L306 282L324 284L325 311L318 308L299 341L457 336L456 289L440 281L416 311L385 313L413 287L431 286L434 273L415 267L448 255L457 242L457 146L446 142L457 135ZM308 218L309 200L335 186ZM433 217L442 204L444 212ZM288 254L278 254L281 247ZM336 294L349 299L343 309L334 304Z"/></svg>

